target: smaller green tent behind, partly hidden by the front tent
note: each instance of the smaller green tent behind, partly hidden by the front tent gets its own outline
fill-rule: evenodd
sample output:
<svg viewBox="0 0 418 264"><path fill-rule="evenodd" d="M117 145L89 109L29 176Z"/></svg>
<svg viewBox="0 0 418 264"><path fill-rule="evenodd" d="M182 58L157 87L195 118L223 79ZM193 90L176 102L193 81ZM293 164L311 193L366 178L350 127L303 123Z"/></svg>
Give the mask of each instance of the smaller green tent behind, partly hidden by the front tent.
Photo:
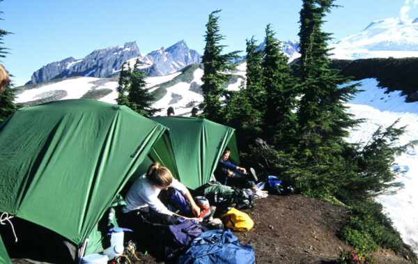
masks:
<svg viewBox="0 0 418 264"><path fill-rule="evenodd" d="M239 164L235 130L205 118L157 116L151 120L169 127L180 181L190 189L208 183L226 147Z"/></svg>

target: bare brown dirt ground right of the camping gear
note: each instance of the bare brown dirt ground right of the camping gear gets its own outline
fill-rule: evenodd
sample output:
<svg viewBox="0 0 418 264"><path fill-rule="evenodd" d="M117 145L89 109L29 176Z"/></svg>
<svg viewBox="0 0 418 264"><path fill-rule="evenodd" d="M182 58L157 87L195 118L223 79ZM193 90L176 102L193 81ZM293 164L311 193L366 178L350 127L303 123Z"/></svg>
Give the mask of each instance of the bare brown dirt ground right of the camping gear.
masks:
<svg viewBox="0 0 418 264"><path fill-rule="evenodd" d="M256 263L335 263L341 249L349 246L337 238L348 219L348 211L302 195L257 199L248 213L254 228L234 232L240 244L250 244ZM160 263L159 256L142 255L132 263ZM390 250L373 254L377 263L411 263ZM13 263L29 263L14 258Z"/></svg>

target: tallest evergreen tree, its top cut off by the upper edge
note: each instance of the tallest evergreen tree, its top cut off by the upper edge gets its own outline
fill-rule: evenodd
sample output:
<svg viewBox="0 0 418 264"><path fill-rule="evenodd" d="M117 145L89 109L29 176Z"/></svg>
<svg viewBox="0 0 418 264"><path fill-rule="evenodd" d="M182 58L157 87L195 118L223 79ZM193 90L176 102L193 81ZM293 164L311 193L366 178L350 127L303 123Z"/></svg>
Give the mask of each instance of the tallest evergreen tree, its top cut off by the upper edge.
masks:
<svg viewBox="0 0 418 264"><path fill-rule="evenodd" d="M357 84L330 68L327 41L321 31L325 13L334 0L303 0L300 11L300 72L302 98L297 111L298 186L305 194L330 194L339 188L341 175L354 176L354 164L343 157L348 129L359 123L346 113L344 103L358 92ZM341 86L341 87L340 87Z"/></svg>

